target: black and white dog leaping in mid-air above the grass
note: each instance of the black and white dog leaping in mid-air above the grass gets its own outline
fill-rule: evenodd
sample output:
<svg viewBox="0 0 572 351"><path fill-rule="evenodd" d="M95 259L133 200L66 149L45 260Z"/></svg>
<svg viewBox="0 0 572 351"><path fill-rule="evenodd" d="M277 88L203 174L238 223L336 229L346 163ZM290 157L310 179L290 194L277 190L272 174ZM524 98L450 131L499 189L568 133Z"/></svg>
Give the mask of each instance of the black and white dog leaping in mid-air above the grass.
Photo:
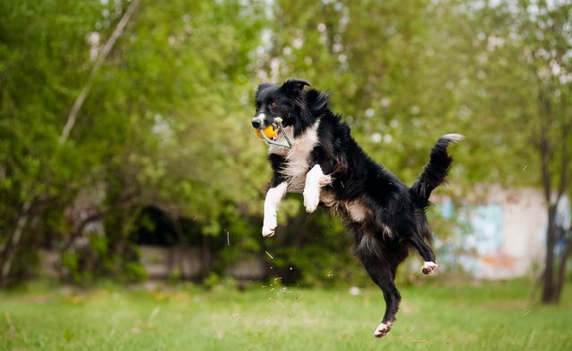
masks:
<svg viewBox="0 0 572 351"><path fill-rule="evenodd" d="M374 331L377 338L391 330L400 304L395 273L414 247L425 264L422 272L437 269L429 246L431 229L425 216L429 196L445 180L452 159L451 142L463 139L447 134L437 141L430 161L411 188L375 163L349 135L349 126L332 113L329 96L304 90L307 81L290 79L282 86L261 84L256 92L256 129L265 129L281 117L291 148L270 145L273 178L265 198L262 235L272 237L276 211L287 192L304 195L308 213L322 204L340 213L355 236L354 249L369 276L383 291L385 314Z"/></svg>

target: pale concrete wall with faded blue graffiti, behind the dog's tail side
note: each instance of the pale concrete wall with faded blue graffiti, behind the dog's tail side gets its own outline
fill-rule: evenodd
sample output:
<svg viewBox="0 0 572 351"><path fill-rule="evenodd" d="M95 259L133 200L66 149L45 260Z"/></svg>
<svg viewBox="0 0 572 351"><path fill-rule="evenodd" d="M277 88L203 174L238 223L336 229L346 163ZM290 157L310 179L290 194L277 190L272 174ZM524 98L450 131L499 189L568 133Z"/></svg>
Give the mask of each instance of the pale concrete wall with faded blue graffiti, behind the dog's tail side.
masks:
<svg viewBox="0 0 572 351"><path fill-rule="evenodd" d="M455 234L458 238L452 240L457 247L447 252L462 254L445 257L446 262L459 264L475 278L486 280L539 272L545 255L547 225L543 193L534 188L477 189L480 196L468 196L469 201L464 205L451 209L446 200L440 204L445 217L455 216L461 224ZM570 213L568 199L561 202L559 213L561 217Z"/></svg>

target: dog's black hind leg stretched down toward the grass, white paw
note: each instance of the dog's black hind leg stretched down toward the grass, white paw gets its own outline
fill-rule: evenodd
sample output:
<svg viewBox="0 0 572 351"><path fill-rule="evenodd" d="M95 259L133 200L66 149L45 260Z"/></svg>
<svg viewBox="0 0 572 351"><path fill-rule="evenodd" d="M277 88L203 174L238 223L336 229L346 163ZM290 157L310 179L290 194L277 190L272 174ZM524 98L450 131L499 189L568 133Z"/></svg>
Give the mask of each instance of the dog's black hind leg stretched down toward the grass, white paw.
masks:
<svg viewBox="0 0 572 351"><path fill-rule="evenodd" d="M375 338L382 338L391 330L391 324L395 321L395 314L400 306L401 296L399 290L395 287L394 274L391 263L383 259L380 255L379 243L376 238L361 238L363 240L373 240L374 247L358 247L357 255L361 263L364 264L367 273L374 280L379 288L382 289L383 298L385 299L385 313L382 322L374 330Z"/></svg>

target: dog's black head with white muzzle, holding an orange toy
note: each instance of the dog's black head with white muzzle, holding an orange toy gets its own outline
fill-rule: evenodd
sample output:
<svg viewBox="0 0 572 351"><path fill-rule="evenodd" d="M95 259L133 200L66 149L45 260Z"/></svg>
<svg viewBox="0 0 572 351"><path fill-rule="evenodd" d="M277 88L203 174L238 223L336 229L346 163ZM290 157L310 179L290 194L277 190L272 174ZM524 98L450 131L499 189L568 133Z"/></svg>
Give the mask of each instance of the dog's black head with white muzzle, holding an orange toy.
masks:
<svg viewBox="0 0 572 351"><path fill-rule="evenodd" d="M264 130L282 118L284 127L292 127L294 136L306 130L311 121L307 110L304 87L310 84L306 80L289 79L282 85L260 84L257 88L255 105L257 112L252 119L252 127ZM275 138L279 138L276 136Z"/></svg>

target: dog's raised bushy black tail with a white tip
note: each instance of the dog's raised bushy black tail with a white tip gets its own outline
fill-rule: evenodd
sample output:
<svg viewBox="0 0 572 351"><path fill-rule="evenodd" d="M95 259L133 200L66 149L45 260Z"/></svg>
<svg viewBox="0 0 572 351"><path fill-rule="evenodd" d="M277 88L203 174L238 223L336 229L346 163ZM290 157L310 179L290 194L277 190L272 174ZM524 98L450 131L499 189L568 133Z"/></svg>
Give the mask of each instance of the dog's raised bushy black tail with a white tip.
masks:
<svg viewBox="0 0 572 351"><path fill-rule="evenodd" d="M431 192L445 181L450 170L450 164L453 162L453 158L447 154L447 146L464 138L460 134L446 134L439 138L437 144L433 146L429 154L429 163L425 165L419 179L409 189L416 205L422 208L429 205Z"/></svg>

